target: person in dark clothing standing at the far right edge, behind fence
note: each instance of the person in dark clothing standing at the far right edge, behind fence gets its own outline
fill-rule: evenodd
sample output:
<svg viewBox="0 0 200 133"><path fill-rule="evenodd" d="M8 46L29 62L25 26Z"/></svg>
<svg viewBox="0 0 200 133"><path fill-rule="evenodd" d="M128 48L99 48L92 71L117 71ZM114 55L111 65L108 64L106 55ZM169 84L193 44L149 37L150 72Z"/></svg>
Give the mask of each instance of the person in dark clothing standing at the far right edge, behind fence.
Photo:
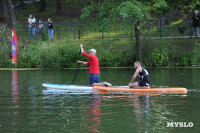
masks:
<svg viewBox="0 0 200 133"><path fill-rule="evenodd" d="M194 36L199 37L199 26L200 26L200 15L199 11L195 10L194 15L192 17L193 23L192 26L194 27Z"/></svg>

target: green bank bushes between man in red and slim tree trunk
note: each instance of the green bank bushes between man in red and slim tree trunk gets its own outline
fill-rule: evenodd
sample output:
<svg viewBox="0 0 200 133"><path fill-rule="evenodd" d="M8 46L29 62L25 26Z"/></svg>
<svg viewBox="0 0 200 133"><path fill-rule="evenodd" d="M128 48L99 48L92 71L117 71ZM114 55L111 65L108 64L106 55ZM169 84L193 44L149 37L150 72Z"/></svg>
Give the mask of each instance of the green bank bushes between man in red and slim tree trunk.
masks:
<svg viewBox="0 0 200 133"><path fill-rule="evenodd" d="M120 40L118 40L121 42ZM108 42L108 41L106 41ZM131 43L130 41L127 41ZM135 48L128 44L118 45L117 40L111 41L104 47L98 46L97 56L99 57L100 66L102 67L129 67L132 66L136 52Z"/></svg>

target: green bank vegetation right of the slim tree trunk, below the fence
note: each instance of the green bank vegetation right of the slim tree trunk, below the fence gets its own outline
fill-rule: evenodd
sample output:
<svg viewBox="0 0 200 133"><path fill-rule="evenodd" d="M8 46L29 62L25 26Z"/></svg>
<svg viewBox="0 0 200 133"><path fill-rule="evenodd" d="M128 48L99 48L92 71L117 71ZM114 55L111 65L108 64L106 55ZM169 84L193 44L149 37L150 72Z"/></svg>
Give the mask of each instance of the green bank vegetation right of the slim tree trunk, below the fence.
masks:
<svg viewBox="0 0 200 133"><path fill-rule="evenodd" d="M160 39L142 41L143 64L153 67L177 67L200 64L198 39Z"/></svg>

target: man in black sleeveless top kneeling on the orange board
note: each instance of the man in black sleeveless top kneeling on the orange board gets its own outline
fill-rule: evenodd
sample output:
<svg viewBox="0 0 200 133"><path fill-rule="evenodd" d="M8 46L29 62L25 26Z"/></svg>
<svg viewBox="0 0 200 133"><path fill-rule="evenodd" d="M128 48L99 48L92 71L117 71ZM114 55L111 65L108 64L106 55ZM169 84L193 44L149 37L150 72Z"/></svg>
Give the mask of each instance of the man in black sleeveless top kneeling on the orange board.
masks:
<svg viewBox="0 0 200 133"><path fill-rule="evenodd" d="M139 61L136 61L134 63L134 68L136 69L136 71L128 86L130 88L150 88L149 73L147 72L147 70L141 66L141 63ZM134 82L137 76L140 78L140 81Z"/></svg>

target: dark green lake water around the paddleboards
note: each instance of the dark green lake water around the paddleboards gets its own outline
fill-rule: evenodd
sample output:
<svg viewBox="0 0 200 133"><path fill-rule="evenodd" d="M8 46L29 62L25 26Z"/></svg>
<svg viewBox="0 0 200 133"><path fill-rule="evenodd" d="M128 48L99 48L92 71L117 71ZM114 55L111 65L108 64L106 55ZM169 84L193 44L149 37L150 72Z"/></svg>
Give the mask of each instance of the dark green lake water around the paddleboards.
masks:
<svg viewBox="0 0 200 133"><path fill-rule="evenodd" d="M127 85L134 69L101 69L101 81ZM75 70L0 70L0 133L197 133L200 68L149 68L151 87L185 87L187 94L87 92L43 94L42 83L70 84ZM75 84L88 84L88 69ZM169 122L185 126L167 127Z"/></svg>

